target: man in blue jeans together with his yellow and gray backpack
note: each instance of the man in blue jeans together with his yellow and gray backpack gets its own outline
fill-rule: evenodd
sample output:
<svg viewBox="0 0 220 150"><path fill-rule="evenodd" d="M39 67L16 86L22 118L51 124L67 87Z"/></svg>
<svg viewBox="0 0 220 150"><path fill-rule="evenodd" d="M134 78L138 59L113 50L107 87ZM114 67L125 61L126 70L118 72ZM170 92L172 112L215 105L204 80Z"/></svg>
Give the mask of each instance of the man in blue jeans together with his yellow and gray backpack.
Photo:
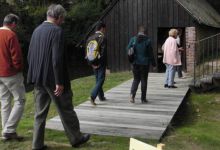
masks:
<svg viewBox="0 0 220 150"><path fill-rule="evenodd" d="M98 96L100 101L105 101L102 86L105 82L105 70L107 64L107 50L106 50L106 25L99 22L96 26L96 32L90 36L86 44L86 59L89 65L92 66L96 85L91 92L91 104L96 105L95 99Z"/></svg>

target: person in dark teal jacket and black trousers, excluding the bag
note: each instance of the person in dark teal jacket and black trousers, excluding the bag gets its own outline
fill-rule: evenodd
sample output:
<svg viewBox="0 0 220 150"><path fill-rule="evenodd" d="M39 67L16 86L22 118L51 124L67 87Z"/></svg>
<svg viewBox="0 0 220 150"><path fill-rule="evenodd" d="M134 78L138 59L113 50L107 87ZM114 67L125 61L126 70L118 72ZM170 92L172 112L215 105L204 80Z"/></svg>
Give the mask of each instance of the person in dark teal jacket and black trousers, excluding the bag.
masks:
<svg viewBox="0 0 220 150"><path fill-rule="evenodd" d="M155 67L156 63L151 46L151 40L146 36L146 29L143 26L140 26L138 31L138 35L131 38L127 47L127 49L130 49L133 46L135 49L133 62L134 80L131 86L130 102L135 102L135 95L141 81L141 102L147 103L146 93L149 66L152 65Z"/></svg>

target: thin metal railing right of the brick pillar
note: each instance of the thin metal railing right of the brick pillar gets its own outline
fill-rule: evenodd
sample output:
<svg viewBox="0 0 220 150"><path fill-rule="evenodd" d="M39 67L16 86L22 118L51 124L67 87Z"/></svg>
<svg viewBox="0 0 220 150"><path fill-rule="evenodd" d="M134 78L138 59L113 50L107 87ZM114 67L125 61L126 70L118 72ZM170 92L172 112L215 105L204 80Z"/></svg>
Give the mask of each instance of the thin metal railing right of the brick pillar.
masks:
<svg viewBox="0 0 220 150"><path fill-rule="evenodd" d="M194 86L212 82L212 77L220 73L220 33L196 41L194 61Z"/></svg>

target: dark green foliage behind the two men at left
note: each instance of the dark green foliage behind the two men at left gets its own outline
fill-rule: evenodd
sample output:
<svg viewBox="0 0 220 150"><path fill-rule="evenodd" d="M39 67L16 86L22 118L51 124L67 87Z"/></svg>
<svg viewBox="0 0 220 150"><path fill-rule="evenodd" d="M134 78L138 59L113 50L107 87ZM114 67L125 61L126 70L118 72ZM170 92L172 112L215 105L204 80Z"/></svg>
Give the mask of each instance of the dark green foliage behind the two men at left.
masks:
<svg viewBox="0 0 220 150"><path fill-rule="evenodd" d="M51 3L61 3L67 10L67 17L63 24L67 48L74 47L82 40L89 26L98 19L106 7L104 0L27 0L13 1L13 3L0 1L1 20L11 12L21 18L18 36L25 53L33 30L46 19L46 10Z"/></svg>

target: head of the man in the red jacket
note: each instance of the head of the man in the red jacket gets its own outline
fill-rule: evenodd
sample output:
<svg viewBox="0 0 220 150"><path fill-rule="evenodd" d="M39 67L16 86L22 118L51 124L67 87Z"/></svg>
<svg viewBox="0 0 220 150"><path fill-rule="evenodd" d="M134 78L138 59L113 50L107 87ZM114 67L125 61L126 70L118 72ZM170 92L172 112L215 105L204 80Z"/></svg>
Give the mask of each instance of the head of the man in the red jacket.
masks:
<svg viewBox="0 0 220 150"><path fill-rule="evenodd" d="M15 14L8 14L5 16L3 25L9 27L10 29L14 29L19 21L19 17Z"/></svg>

